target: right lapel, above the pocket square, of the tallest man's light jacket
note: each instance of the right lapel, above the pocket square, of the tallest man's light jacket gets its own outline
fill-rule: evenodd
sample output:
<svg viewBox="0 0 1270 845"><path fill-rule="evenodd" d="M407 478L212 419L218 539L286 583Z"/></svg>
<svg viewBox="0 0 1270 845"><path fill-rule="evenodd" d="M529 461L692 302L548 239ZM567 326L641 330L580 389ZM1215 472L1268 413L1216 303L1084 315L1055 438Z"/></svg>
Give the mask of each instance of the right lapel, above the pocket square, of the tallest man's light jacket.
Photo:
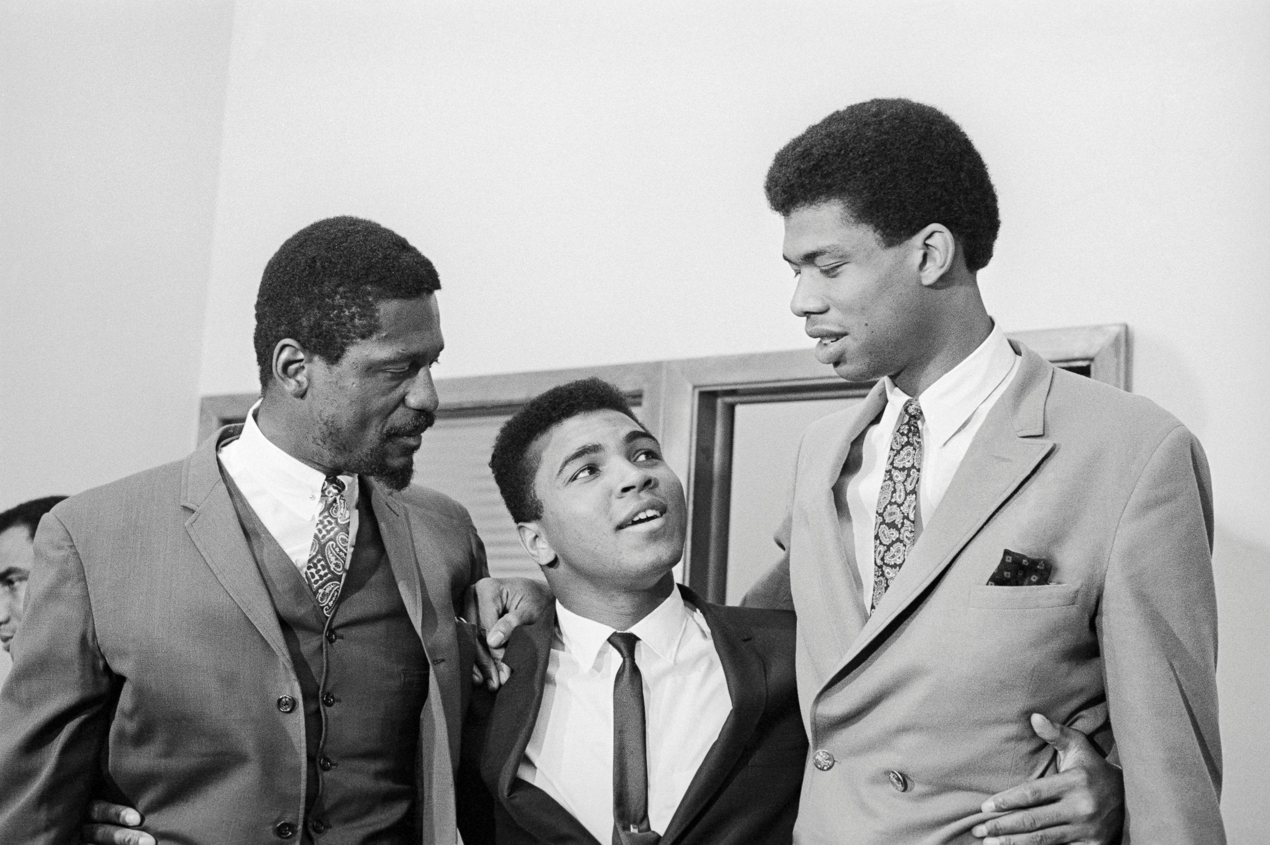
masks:
<svg viewBox="0 0 1270 845"><path fill-rule="evenodd" d="M993 514L1053 450L1044 434L1053 367L1021 345L1015 382L989 411L952 476L931 521L908 552L890 589L847 651L831 683L909 605L917 601Z"/></svg>

